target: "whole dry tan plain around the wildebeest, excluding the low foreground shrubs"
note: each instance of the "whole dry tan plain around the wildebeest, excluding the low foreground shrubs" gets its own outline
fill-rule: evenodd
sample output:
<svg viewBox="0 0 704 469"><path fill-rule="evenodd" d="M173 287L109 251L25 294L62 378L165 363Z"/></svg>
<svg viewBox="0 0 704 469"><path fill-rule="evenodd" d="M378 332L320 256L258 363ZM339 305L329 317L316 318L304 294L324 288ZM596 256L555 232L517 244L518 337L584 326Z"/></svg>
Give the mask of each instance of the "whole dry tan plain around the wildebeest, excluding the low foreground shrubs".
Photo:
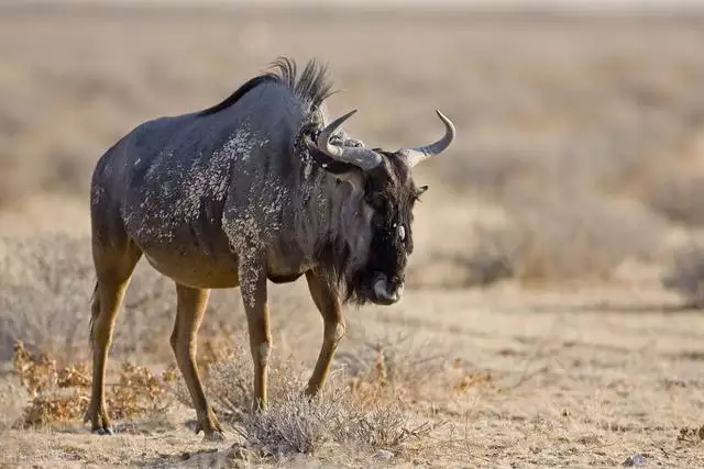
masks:
<svg viewBox="0 0 704 469"><path fill-rule="evenodd" d="M688 14L0 7L0 468L704 467L704 315L661 281L704 219L703 26ZM13 339L85 357L95 160L278 55L326 59L344 90L329 108L359 108L348 130L367 144L432 138L436 108L458 126L416 176L431 189L403 301L350 310L336 362L345 383L345 357L394 343L415 371L384 399L432 432L403 448L248 459L246 438L202 442L176 401L111 437L79 420L18 425L31 397ZM162 369L173 291L142 267L113 357ZM275 347L307 372L318 314L300 284L273 292ZM212 302L201 340L242 328L237 291ZM162 348L140 348L153 335Z"/></svg>

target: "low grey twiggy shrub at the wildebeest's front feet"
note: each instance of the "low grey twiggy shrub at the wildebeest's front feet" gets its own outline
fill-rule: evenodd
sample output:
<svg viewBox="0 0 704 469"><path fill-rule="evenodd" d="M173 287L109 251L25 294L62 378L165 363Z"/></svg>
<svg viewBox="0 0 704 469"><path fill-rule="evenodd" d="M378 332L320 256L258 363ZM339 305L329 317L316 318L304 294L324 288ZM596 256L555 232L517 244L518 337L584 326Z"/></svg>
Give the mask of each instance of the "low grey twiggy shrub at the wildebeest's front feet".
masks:
<svg viewBox="0 0 704 469"><path fill-rule="evenodd" d="M242 343L242 339L235 340L235 344ZM201 361L210 402L245 438L248 447L262 455L280 458L312 454L330 445L403 450L410 440L422 440L436 427L415 422L404 402L402 382L406 389L413 380L413 386L418 388L421 370L436 367L429 365L436 362L435 358L409 359L416 355L402 351L407 343L389 342L381 347L367 344L364 351L354 354L356 368L332 371L326 390L312 399L302 395L310 370L274 349L270 357L270 407L263 413L251 412L249 348L224 342L213 344L206 348L215 354L204 354ZM380 361L377 354L386 358ZM397 392L391 383L398 386ZM193 405L180 376L172 389L184 404Z"/></svg>

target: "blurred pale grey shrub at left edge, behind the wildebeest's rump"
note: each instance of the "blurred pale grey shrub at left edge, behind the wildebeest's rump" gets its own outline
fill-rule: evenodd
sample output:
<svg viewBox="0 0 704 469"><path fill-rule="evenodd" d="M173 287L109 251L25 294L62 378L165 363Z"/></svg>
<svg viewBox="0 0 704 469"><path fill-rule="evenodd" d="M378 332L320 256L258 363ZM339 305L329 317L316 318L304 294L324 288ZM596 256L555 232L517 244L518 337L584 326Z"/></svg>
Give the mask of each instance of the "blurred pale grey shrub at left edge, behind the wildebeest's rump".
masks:
<svg viewBox="0 0 704 469"><path fill-rule="evenodd" d="M86 348L89 246L65 234L0 239L0 359L15 340L67 358Z"/></svg>

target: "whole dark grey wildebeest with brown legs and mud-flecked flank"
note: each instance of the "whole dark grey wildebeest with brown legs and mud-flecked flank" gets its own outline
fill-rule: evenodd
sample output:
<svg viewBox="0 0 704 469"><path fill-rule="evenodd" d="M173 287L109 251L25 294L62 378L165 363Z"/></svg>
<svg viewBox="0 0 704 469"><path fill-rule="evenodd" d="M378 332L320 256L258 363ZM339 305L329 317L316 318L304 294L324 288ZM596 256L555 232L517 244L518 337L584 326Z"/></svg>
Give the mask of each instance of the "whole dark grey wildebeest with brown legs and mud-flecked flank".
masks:
<svg viewBox="0 0 704 469"><path fill-rule="evenodd" d="M399 299L413 252L413 208L427 187L411 168L454 138L440 112L442 138L413 149L365 148L328 123L327 69L310 60L300 75L279 58L221 103L147 121L98 160L91 181L94 432L112 433L105 404L107 353L120 303L142 255L176 282L170 344L188 386L196 433L222 429L194 361L210 289L240 287L254 361L254 402L267 404L272 346L266 281L305 275L324 323L306 394L322 387L345 326L341 304Z"/></svg>

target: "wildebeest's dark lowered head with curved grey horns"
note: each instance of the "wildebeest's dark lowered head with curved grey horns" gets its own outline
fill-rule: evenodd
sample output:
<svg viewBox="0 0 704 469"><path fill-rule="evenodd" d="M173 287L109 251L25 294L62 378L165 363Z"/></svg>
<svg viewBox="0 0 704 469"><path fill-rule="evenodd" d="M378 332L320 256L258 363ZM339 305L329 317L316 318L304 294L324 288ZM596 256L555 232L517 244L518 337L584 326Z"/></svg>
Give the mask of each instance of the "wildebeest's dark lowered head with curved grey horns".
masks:
<svg viewBox="0 0 704 469"><path fill-rule="evenodd" d="M393 304L403 292L406 264L414 248L414 205L428 189L416 186L411 169L448 148L455 131L452 122L437 111L446 133L430 145L396 152L333 145L330 139L334 131L354 112L327 125L309 145L323 168L353 188L349 198L352 206L342 215L345 239L339 256L342 266L338 266L348 300Z"/></svg>

